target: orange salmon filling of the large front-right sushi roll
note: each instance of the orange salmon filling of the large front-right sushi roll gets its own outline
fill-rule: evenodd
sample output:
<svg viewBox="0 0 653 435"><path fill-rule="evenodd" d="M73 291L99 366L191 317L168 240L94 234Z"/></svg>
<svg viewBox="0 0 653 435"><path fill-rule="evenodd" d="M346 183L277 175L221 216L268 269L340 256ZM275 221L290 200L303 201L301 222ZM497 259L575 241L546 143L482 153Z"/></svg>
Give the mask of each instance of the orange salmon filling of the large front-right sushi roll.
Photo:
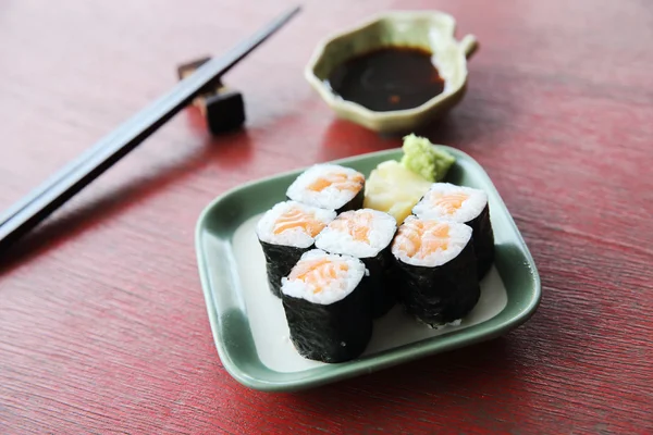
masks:
<svg viewBox="0 0 653 435"><path fill-rule="evenodd" d="M410 258L423 259L436 250L448 248L449 226L446 223L412 221L399 227L396 243Z"/></svg>

